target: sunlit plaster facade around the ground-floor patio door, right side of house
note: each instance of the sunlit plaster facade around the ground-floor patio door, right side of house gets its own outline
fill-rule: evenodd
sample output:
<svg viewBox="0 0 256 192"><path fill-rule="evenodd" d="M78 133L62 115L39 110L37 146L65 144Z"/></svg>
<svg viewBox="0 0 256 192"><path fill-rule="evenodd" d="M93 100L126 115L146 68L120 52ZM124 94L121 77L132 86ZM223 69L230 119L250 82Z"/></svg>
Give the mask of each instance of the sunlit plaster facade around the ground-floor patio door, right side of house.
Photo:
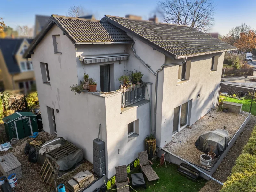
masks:
<svg viewBox="0 0 256 192"><path fill-rule="evenodd" d="M219 58L217 71L210 72L212 56ZM162 105L162 117L161 126L156 127L157 145L163 147L172 140L174 108L191 100L188 116L188 125L191 125L216 105L223 60L224 52L188 58L190 77L183 84L177 83L178 66L164 68L163 102L158 102Z"/></svg>

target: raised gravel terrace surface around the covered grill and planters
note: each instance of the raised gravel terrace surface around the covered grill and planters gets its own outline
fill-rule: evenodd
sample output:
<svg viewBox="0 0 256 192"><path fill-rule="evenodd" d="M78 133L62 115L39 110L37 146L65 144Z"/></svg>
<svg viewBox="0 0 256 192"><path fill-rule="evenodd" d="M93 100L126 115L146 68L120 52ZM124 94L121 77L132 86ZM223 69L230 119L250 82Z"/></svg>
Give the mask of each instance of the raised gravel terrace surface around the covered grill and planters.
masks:
<svg viewBox="0 0 256 192"><path fill-rule="evenodd" d="M204 153L199 151L195 146L199 135L205 131L223 129L224 126L226 127L225 130L229 133L235 134L248 116L247 112L242 112L241 114L223 113L222 111L217 112L216 110L212 110L212 117L216 117L216 119L209 117L210 113L208 113L207 116L202 117L194 123L191 129L184 128L178 132L164 148L191 163L203 166L199 159L200 155ZM215 161L216 159L213 159L212 164ZM206 168L206 166L203 167Z"/></svg>

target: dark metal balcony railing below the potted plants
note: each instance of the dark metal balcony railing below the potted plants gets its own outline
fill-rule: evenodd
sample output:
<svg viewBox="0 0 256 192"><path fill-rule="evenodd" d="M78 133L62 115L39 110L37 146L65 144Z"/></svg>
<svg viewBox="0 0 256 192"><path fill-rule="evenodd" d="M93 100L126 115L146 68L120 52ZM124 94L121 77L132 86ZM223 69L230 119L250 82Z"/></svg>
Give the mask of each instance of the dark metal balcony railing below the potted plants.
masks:
<svg viewBox="0 0 256 192"><path fill-rule="evenodd" d="M121 89L121 108L132 105L133 103L137 103L141 100L145 99L145 88L146 84L142 83L140 85L136 85L135 87L128 87L126 89Z"/></svg>

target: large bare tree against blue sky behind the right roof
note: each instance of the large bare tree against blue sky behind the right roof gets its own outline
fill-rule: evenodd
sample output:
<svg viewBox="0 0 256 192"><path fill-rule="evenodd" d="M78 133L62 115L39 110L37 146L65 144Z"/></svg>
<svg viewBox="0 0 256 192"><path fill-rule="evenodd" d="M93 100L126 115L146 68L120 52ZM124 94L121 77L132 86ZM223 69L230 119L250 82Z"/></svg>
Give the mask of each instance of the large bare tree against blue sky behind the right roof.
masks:
<svg viewBox="0 0 256 192"><path fill-rule="evenodd" d="M163 0L158 3L166 23L188 25L202 32L214 23L212 0Z"/></svg>

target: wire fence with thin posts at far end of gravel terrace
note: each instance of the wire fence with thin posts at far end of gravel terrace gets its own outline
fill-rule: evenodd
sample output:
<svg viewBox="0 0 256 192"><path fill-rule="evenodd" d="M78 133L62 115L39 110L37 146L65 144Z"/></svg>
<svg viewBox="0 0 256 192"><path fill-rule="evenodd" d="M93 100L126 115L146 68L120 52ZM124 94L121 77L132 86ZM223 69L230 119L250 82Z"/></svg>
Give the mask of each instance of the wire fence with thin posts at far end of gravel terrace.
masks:
<svg viewBox="0 0 256 192"><path fill-rule="evenodd" d="M219 87L218 106L224 101L242 104L242 111L256 116L256 88L221 83Z"/></svg>

